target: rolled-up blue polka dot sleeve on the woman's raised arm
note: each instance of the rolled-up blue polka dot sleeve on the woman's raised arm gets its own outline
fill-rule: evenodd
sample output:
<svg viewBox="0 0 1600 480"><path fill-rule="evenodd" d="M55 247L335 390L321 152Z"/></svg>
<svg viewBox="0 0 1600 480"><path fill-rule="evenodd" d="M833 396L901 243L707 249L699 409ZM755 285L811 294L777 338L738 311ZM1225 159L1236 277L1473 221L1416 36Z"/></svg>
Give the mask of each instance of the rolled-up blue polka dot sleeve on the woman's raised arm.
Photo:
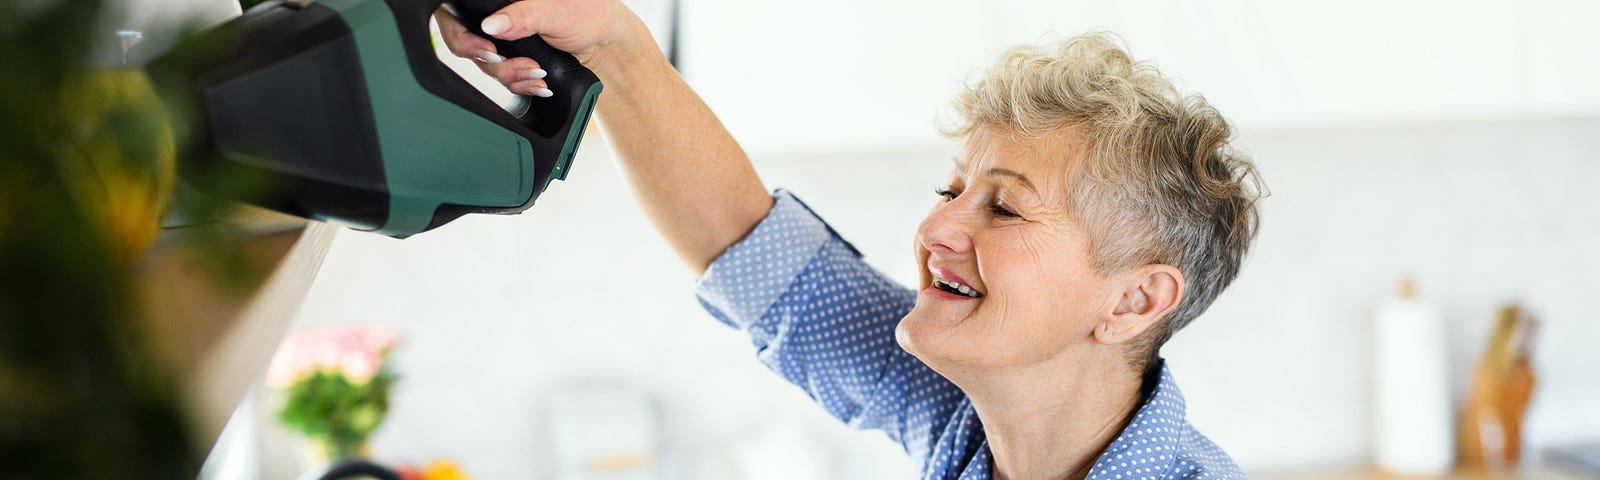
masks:
<svg viewBox="0 0 1600 480"><path fill-rule="evenodd" d="M830 414L925 456L963 395L894 341L917 293L867 266L792 194L774 197L701 277L701 306L747 331L757 358Z"/></svg>

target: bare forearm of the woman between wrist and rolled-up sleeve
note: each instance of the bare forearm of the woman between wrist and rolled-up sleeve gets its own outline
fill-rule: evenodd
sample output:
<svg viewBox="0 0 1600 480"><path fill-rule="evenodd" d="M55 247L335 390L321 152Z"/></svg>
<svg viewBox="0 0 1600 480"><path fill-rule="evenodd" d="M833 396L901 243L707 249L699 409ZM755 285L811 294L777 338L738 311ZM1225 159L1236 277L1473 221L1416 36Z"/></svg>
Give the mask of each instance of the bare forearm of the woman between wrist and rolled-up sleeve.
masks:
<svg viewBox="0 0 1600 480"><path fill-rule="evenodd" d="M643 24L634 38L590 64L605 83L600 128L645 216L698 277L766 216L773 198Z"/></svg>

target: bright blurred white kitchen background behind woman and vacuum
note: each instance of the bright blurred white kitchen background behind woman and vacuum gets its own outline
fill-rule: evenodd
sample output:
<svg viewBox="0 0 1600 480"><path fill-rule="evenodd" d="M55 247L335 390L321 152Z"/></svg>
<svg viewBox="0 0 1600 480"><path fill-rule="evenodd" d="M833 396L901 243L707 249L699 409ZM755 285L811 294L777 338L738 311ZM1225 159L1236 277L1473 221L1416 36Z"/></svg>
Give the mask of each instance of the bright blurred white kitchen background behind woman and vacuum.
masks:
<svg viewBox="0 0 1600 480"><path fill-rule="evenodd" d="M133 5L130 27L237 13ZM1240 466L1267 478L1370 466L1376 373L1408 355L1443 358L1434 379L1454 427L1510 304L1539 322L1526 461L1600 442L1600 3L635 5L768 187L797 192L907 283L912 232L954 152L936 126L960 85L1006 46L1117 32L1235 122L1270 189L1242 275L1165 349L1190 421ZM698 307L694 278L589 139L526 214L403 242L336 234L293 330L398 333L370 454L445 458L478 478L915 477L898 446L826 416ZM1394 360L1378 318L1405 278L1438 333ZM253 390L208 475L299 474L280 402ZM611 462L565 467L595 458Z"/></svg>

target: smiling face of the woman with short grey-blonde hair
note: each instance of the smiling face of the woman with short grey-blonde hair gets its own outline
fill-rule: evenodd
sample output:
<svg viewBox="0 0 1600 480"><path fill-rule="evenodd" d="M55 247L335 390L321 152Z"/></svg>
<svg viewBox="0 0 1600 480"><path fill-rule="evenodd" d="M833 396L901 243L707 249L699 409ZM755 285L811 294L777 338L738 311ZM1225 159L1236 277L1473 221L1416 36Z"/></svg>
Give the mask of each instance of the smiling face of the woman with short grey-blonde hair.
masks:
<svg viewBox="0 0 1600 480"><path fill-rule="evenodd" d="M1091 341L1117 296L1066 208L1070 141L966 138L917 229L922 291L896 330L907 352L949 376L1037 365Z"/></svg>

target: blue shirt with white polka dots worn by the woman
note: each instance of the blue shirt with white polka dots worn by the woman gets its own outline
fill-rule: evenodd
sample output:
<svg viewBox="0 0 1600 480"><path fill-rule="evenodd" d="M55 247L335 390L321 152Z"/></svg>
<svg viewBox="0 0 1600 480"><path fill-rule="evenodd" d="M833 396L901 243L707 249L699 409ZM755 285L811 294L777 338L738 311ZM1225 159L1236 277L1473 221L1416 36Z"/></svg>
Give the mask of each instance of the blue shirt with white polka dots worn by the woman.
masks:
<svg viewBox="0 0 1600 480"><path fill-rule="evenodd" d="M922 462L923 478L990 478L989 442L971 400L894 342L917 293L861 259L786 190L749 237L706 270L698 296L717 320L750 334L755 355L832 416L875 429ZM1245 478L1184 419L1165 362L1128 427L1090 480Z"/></svg>

